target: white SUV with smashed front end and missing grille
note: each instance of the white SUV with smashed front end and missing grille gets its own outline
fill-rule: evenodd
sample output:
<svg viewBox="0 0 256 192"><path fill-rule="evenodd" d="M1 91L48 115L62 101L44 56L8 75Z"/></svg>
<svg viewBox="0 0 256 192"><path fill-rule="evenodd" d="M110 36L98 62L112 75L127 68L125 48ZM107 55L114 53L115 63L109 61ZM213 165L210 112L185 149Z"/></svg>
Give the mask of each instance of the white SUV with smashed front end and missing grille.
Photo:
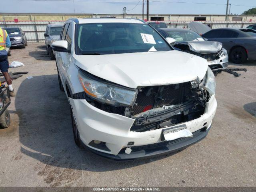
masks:
<svg viewBox="0 0 256 192"><path fill-rule="evenodd" d="M74 140L132 160L175 152L209 132L217 102L208 62L136 19L70 19L52 43Z"/></svg>

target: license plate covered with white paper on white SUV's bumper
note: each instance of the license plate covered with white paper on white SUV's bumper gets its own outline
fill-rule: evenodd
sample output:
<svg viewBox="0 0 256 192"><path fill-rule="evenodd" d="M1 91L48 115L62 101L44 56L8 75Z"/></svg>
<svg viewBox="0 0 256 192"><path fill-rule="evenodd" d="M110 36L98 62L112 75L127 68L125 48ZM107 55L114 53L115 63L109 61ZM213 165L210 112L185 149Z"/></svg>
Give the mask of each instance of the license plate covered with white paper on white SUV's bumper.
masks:
<svg viewBox="0 0 256 192"><path fill-rule="evenodd" d="M170 127L162 130L162 140L171 141L182 137L192 137L186 125Z"/></svg>

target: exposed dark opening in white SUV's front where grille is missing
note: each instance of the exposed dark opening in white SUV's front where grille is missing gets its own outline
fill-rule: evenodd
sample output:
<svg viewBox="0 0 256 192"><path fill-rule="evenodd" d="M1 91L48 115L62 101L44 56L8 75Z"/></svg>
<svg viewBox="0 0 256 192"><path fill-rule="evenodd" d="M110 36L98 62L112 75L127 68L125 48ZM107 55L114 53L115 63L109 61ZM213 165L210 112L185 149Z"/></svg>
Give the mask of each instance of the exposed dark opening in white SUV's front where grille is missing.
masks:
<svg viewBox="0 0 256 192"><path fill-rule="evenodd" d="M199 88L199 80L173 85L138 88L133 106L110 106L92 100L84 92L74 98L86 98L93 106L110 113L134 118L131 131L144 132L199 118L204 114L207 92Z"/></svg>

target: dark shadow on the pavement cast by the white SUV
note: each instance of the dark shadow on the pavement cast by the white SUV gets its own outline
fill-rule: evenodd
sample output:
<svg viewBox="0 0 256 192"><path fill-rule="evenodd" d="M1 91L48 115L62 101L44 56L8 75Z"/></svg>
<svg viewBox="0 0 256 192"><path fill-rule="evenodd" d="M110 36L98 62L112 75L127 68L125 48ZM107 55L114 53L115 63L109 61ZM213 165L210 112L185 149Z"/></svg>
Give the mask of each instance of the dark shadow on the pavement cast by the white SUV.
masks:
<svg viewBox="0 0 256 192"><path fill-rule="evenodd" d="M146 164L169 155L130 162L110 161L88 149L80 149L73 138L70 107L58 88L58 76L25 79L16 94L21 152L61 168L102 172Z"/></svg>

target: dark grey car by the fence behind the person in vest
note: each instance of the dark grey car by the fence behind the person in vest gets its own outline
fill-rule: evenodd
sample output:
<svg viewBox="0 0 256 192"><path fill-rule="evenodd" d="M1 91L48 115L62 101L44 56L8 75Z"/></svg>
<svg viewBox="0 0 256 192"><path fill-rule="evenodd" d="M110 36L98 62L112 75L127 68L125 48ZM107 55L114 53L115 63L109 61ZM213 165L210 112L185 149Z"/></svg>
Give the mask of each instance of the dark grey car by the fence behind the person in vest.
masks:
<svg viewBox="0 0 256 192"><path fill-rule="evenodd" d="M3 28L8 33L11 41L11 47L26 48L28 45L25 33L19 27Z"/></svg>

